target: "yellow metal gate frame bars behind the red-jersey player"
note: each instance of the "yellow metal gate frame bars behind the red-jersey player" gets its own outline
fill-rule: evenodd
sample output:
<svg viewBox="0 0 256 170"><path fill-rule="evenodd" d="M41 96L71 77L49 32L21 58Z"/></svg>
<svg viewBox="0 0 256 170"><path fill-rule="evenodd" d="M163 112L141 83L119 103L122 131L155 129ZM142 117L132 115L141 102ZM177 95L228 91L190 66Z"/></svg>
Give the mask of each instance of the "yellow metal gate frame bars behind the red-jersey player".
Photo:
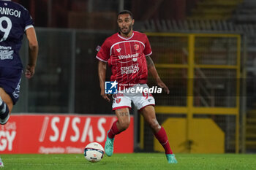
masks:
<svg viewBox="0 0 256 170"><path fill-rule="evenodd" d="M239 79L240 79L240 53L241 36L238 34L169 34L169 33L147 33L148 38L161 37L187 37L187 63L155 63L157 69L187 69L187 106L156 106L157 114L185 114L187 115L187 141L192 139L192 123L196 115L234 115L236 116L236 152L239 152ZM195 63L195 43L198 37L219 37L236 39L236 63L234 64L197 64ZM152 46L152 45L151 45ZM152 47L153 48L153 47ZM157 55L157 54L155 54ZM235 107L195 107L194 106L194 78L195 69L231 69L236 71L236 106ZM144 122L140 119L140 147L144 147Z"/></svg>

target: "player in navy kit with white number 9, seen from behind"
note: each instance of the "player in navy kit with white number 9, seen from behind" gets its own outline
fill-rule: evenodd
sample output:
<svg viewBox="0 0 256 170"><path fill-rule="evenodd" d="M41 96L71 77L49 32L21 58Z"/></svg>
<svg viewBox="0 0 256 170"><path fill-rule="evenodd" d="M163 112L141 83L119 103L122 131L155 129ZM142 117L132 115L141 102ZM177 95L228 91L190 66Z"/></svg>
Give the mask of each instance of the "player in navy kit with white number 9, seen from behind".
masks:
<svg viewBox="0 0 256 170"><path fill-rule="evenodd" d="M20 4L0 0L0 124L7 123L13 105L18 101L23 74L19 50L23 34L29 40L29 63L26 77L34 75L38 43L29 11ZM4 163L0 158L0 167Z"/></svg>

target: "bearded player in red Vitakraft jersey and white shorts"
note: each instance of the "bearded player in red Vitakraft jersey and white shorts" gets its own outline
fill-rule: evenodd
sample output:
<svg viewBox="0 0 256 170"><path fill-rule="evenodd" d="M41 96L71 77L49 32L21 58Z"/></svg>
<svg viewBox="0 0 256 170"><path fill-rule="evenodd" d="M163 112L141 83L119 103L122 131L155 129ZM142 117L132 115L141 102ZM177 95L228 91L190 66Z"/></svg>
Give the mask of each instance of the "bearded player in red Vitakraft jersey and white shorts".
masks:
<svg viewBox="0 0 256 170"><path fill-rule="evenodd" d="M102 98L110 101L110 98L105 93L107 63L112 72L110 80L118 83L119 90L148 88L146 82L148 72L150 72L156 80L157 85L164 88L168 94L169 89L160 79L154 63L150 58L152 51L146 34L132 30L132 26L135 23L132 12L128 10L119 12L117 23L119 32L105 40L96 56L99 59L98 72ZM156 136L162 147L164 147L168 163L177 163L175 155L170 149L165 129L157 121L154 110L154 97L150 93L117 93L113 95L113 110L118 120L113 123L111 129L108 131L105 142L106 154L108 156L113 155L114 137L125 131L129 126L131 102L138 108L140 114L143 115L148 125L150 125L154 136Z"/></svg>

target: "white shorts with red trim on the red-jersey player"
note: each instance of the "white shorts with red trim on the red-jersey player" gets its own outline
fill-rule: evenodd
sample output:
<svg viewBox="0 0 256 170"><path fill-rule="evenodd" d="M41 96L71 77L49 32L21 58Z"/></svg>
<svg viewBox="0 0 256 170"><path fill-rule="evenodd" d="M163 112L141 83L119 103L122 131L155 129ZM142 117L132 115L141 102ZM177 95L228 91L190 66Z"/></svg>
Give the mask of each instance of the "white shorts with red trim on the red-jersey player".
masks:
<svg viewBox="0 0 256 170"><path fill-rule="evenodd" d="M129 107L129 109L132 108L132 102L135 104L135 107L137 109L143 109L143 107L146 107L148 105L155 105L154 97L151 95L151 93L141 93L141 91L135 91L135 93L131 92L131 89L138 89L138 88L148 88L148 85L135 85L130 88L127 88L125 90L118 91L117 94L113 95L113 104L112 108L113 110L121 109Z"/></svg>

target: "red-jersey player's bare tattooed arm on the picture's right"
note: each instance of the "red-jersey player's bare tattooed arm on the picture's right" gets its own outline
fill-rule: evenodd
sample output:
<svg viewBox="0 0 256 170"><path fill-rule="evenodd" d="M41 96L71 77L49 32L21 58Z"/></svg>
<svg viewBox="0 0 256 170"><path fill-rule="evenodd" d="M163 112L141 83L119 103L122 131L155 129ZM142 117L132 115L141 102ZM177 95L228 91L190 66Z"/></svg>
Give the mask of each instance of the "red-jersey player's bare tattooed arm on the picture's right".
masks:
<svg viewBox="0 0 256 170"><path fill-rule="evenodd" d="M154 62L152 61L151 57L149 57L149 56L146 57L146 61L147 61L147 65L148 65L148 72L150 72L152 74L152 76L154 77L154 79L157 82L157 85L159 87L163 88L167 94L169 94L170 90L169 90L169 88L167 88L165 83L162 82L161 78L159 77L159 75L157 73L157 69L154 66Z"/></svg>

